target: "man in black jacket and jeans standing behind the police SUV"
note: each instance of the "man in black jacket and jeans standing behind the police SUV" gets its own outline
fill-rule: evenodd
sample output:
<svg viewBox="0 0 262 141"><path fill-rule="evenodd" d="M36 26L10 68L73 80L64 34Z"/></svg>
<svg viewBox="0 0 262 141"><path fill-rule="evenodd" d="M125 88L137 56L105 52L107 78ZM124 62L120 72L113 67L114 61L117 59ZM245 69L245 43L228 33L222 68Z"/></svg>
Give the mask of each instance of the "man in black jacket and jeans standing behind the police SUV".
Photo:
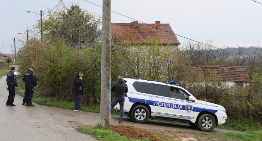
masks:
<svg viewBox="0 0 262 141"><path fill-rule="evenodd" d="M123 75L119 75L117 82L114 82L111 87L111 92L115 92L114 99L111 102L111 114L113 108L117 103L120 105L120 119L119 124L122 124L122 119L124 116L124 103L125 103L125 94L128 92L128 86L123 80Z"/></svg>

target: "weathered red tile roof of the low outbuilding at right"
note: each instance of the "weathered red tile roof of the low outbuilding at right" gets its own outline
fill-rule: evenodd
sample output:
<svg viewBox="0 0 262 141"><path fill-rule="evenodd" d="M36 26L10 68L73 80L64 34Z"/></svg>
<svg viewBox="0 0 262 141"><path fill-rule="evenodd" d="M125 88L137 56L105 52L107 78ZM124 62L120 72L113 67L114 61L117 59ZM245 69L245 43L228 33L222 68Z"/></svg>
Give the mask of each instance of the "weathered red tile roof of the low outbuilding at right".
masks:
<svg viewBox="0 0 262 141"><path fill-rule="evenodd" d="M219 80L254 82L251 80L247 67L241 66L191 66L190 71L195 73L195 80L203 81L203 77L217 77Z"/></svg>

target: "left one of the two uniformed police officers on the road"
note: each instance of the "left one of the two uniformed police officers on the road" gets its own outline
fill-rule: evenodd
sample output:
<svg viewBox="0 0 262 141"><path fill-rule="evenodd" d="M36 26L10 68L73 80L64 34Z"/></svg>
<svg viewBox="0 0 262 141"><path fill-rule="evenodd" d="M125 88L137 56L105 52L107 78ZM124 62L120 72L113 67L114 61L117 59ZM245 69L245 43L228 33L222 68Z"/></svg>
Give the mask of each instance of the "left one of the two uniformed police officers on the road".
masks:
<svg viewBox="0 0 262 141"><path fill-rule="evenodd" d="M6 105L8 106L15 106L14 105L14 99L15 99L15 87L17 87L17 89L19 89L17 82L16 82L16 77L15 77L15 67L11 68L11 71L9 73L7 73L6 75L6 82L7 82L7 86L8 86L8 99L6 101Z"/></svg>

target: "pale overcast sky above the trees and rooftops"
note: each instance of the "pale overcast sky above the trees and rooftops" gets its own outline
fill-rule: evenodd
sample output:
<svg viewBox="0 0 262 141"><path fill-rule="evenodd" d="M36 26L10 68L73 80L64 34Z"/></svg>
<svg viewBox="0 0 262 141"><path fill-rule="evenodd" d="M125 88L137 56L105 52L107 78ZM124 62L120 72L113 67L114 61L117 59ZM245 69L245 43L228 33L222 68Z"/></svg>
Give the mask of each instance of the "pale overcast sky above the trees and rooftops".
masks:
<svg viewBox="0 0 262 141"><path fill-rule="evenodd" d="M27 27L36 24L36 14L53 9L60 0L1 0L0 2L0 52L11 53L11 40L25 33ZM79 3L90 13L102 8L84 0L63 0L67 4ZM87 0L102 6L102 0ZM262 3L262 0L256 0ZM34 9L33 9L33 6ZM111 10L144 23L169 23L175 32L193 40L213 39L218 46L262 46L262 4L252 0L112 0ZM37 18L37 17L36 17ZM112 12L111 22L134 21ZM139 22L140 23L140 22ZM183 44L187 39L178 36ZM7 43L4 45L4 43Z"/></svg>

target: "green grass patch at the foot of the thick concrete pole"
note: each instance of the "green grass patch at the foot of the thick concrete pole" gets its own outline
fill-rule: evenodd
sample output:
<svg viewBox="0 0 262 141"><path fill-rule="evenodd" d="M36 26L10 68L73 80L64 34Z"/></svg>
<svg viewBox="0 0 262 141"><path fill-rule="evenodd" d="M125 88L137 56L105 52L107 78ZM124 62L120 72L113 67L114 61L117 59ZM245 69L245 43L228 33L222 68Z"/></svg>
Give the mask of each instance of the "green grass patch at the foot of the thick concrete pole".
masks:
<svg viewBox="0 0 262 141"><path fill-rule="evenodd" d="M78 131L91 135L93 138L98 138L103 141L137 141L133 138L128 138L126 136L121 136L114 131L102 128L100 124L92 127L78 127ZM150 141L148 138L140 141Z"/></svg>

